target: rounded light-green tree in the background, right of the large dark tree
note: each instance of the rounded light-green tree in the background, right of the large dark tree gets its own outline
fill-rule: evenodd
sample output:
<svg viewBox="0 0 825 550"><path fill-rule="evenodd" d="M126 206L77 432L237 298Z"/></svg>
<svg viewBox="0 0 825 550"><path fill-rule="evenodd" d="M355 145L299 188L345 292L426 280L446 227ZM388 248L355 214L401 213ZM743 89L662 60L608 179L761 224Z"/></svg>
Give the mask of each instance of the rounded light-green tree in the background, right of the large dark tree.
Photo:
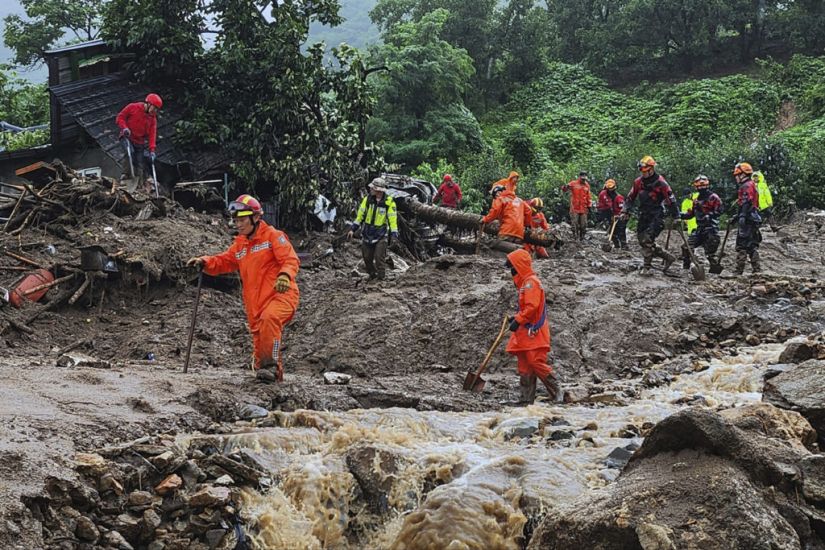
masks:
<svg viewBox="0 0 825 550"><path fill-rule="evenodd" d="M378 79L369 135L384 145L388 160L410 169L481 146L481 129L463 102L475 70L466 51L441 38L448 17L439 8L394 25L373 50L375 64L388 72Z"/></svg>

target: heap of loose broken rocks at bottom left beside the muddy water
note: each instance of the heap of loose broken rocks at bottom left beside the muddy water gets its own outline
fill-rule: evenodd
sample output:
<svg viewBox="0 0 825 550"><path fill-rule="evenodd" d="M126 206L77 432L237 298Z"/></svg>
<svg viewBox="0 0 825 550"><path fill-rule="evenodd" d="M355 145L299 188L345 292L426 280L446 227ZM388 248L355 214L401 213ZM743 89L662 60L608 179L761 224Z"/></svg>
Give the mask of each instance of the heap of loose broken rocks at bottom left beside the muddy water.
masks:
<svg viewBox="0 0 825 550"><path fill-rule="evenodd" d="M218 440L184 452L168 438L79 453L77 480L50 477L24 497L48 548L231 549L245 539L242 487L271 484L249 452L221 453Z"/></svg>

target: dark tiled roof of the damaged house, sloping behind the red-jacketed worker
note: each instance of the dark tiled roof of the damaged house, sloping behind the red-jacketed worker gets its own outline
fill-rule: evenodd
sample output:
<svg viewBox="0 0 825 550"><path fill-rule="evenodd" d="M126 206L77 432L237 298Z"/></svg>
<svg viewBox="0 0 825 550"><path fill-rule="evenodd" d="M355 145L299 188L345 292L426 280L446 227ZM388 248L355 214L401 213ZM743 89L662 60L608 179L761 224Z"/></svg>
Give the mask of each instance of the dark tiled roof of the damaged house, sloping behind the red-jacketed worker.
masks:
<svg viewBox="0 0 825 550"><path fill-rule="evenodd" d="M115 73L58 84L49 90L63 112L74 118L107 155L121 167L126 165L126 151L118 140L120 130L115 117L127 104L143 101L150 92L148 88L129 82L124 73ZM177 167L181 177L189 177L190 168L195 178L224 171L230 162L226 155L214 151L183 151L175 146L172 136L175 123L180 119L179 111L164 105L158 116L157 160Z"/></svg>

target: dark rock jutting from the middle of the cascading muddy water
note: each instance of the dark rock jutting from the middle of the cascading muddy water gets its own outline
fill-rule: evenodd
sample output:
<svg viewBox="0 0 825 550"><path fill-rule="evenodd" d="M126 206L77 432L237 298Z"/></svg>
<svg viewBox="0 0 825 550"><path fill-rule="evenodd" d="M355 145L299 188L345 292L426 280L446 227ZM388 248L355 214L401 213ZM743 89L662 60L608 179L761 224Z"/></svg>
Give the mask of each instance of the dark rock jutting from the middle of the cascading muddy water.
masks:
<svg viewBox="0 0 825 550"><path fill-rule="evenodd" d="M398 456L385 449L365 445L350 449L346 454L346 463L370 510L387 514L390 509L389 493L398 473Z"/></svg>

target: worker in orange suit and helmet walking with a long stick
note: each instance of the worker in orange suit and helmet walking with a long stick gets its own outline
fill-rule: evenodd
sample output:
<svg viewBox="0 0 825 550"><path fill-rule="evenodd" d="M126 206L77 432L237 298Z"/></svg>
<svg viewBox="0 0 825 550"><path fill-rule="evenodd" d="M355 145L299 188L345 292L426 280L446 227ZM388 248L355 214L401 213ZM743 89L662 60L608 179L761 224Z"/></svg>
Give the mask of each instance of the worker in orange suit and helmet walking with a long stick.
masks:
<svg viewBox="0 0 825 550"><path fill-rule="evenodd" d="M239 271L243 301L255 355L256 376L263 382L282 382L282 333L298 309L300 261L289 238L261 219L261 203L241 195L229 203L238 235L221 254L200 256L187 265L220 275Z"/></svg>

